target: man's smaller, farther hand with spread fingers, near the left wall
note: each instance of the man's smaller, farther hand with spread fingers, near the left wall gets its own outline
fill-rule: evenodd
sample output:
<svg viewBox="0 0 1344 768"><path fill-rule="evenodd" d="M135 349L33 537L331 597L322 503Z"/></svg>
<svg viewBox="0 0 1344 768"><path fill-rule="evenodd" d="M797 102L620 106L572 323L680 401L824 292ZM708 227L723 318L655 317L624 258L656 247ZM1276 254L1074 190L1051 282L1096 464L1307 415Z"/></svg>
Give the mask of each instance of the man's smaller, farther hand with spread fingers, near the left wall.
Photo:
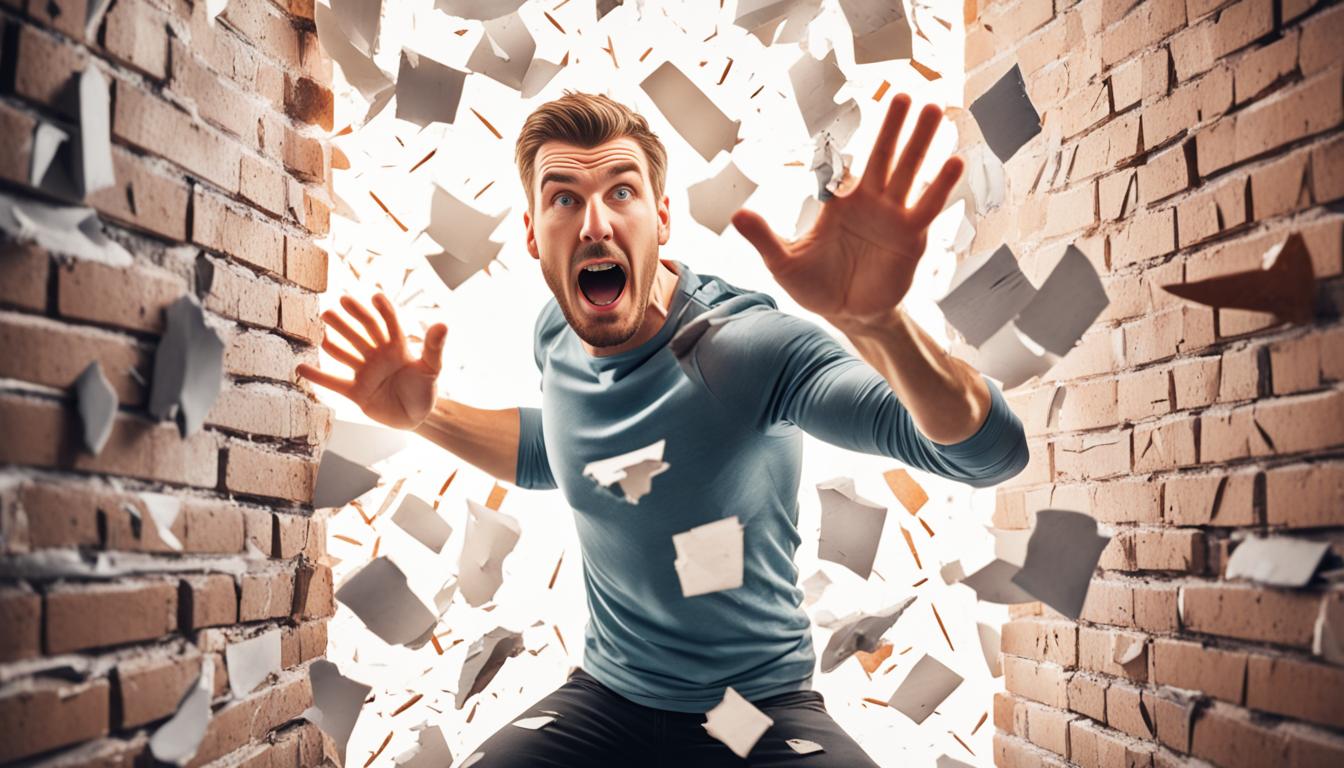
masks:
<svg viewBox="0 0 1344 768"><path fill-rule="evenodd" d="M383 325L359 301L343 296L341 307L367 331L356 331L339 312L323 312L328 331L323 334L323 350L337 362L355 370L353 378L341 379L309 364L300 364L298 375L352 399L364 416L398 429L415 429L425 421L437 399L434 386L444 359L444 339L448 325L435 323L425 334L421 356L411 355L406 336L396 321L392 303L382 293L374 295L374 307L383 316ZM345 338L353 352L336 346L331 331Z"/></svg>

